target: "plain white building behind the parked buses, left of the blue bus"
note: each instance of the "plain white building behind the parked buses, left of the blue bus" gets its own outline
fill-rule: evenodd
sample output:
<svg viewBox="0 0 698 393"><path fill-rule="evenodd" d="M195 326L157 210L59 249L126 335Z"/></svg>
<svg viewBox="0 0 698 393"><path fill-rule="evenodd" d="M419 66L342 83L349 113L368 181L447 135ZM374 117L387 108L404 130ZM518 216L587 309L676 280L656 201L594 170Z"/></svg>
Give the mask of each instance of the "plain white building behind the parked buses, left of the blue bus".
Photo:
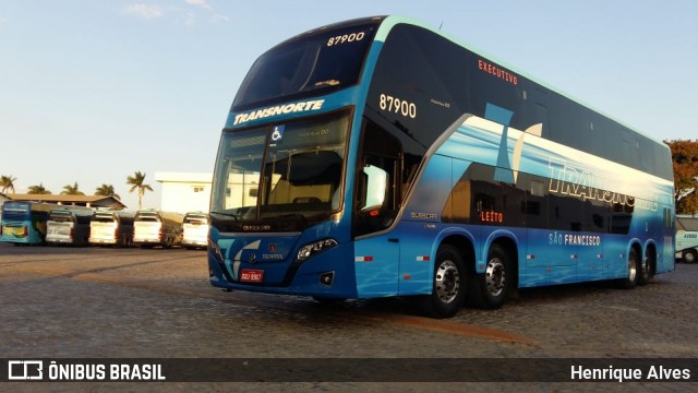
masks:
<svg viewBox="0 0 698 393"><path fill-rule="evenodd" d="M208 212L212 174L155 172L163 183L160 209L167 212Z"/></svg>

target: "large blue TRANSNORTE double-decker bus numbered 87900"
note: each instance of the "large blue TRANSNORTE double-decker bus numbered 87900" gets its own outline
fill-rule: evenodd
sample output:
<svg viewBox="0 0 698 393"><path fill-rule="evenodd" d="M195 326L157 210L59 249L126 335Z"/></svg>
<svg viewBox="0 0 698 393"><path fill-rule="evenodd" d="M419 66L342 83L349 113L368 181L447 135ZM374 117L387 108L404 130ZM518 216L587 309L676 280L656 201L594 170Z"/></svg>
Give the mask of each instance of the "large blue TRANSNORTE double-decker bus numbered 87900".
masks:
<svg viewBox="0 0 698 393"><path fill-rule="evenodd" d="M434 317L674 269L670 150L459 39L370 17L262 55L232 103L210 284Z"/></svg>

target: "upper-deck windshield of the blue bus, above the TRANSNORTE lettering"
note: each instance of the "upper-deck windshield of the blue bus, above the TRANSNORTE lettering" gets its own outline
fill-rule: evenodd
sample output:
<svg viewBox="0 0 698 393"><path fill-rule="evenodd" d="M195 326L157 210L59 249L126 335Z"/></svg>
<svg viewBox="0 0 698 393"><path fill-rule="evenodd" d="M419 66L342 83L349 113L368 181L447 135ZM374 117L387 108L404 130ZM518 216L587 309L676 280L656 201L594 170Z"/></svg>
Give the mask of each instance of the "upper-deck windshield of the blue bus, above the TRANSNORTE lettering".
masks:
<svg viewBox="0 0 698 393"><path fill-rule="evenodd" d="M231 111L356 84L376 22L309 33L262 55L240 85Z"/></svg>

